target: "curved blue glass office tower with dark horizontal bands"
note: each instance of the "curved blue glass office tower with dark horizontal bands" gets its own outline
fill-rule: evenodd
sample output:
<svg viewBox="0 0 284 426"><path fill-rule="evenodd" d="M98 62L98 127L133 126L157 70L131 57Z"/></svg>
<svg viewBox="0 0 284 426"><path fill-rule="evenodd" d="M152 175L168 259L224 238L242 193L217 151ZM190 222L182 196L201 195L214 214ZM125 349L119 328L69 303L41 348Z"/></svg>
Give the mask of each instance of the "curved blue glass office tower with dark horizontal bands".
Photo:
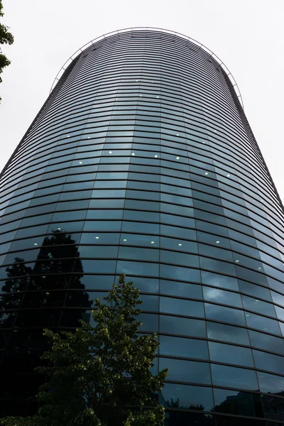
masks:
<svg viewBox="0 0 284 426"><path fill-rule="evenodd" d="M235 89L155 28L67 63L1 174L0 417L35 409L43 327L92 324L126 273L167 426L284 424L283 206Z"/></svg>

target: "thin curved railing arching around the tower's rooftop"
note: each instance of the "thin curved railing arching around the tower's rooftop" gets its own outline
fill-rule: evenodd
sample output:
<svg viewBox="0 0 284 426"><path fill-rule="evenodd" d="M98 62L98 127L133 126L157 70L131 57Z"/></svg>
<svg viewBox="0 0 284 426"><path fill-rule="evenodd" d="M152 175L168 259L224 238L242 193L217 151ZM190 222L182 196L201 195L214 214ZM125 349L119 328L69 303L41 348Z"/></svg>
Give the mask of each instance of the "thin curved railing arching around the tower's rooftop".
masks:
<svg viewBox="0 0 284 426"><path fill-rule="evenodd" d="M191 43L197 45L198 48L204 50L204 52L207 53L209 55L209 57L212 57L219 64L219 66L222 67L222 69L224 70L226 76L229 78L229 80L231 81L232 86L234 87L234 91L236 92L236 96L239 99L241 107L244 109L244 102L243 102L243 99L241 97L241 91L239 89L238 84L236 84L236 80L234 79L233 75L229 71L229 68L226 67L226 65L224 65L224 62L214 52L212 52L212 50L210 50L209 48L207 48L205 45L203 45L202 43L198 42L194 38L189 37L188 35L184 35L182 33L178 33L178 31L171 31L171 30L166 30L165 28L157 28L157 27L122 28L121 30L111 31L110 33L106 33L104 35L99 35L99 37L94 38L93 40L90 40L88 43L84 44L81 48L79 48L78 50L76 50L76 52L73 53L73 55L70 56L70 58L67 59L67 61L64 63L64 65L62 65L62 67L60 68L58 74L56 75L56 77L55 77L55 79L53 81L53 84L52 84L51 89L50 89L50 93L55 88L56 84L58 83L58 81L60 80L60 78L62 77L62 75L64 74L64 72L67 69L67 67L72 63L73 60L75 60L75 58L77 58L78 55L80 55L80 53L82 53L84 50L86 50L87 48L89 48L94 43L97 43L100 40L104 40L105 38L109 38L112 35L129 33L131 31L151 31L151 32L155 31L157 33L160 32L160 33L175 35L175 36L177 36L179 38L182 38L184 40L188 40Z"/></svg>

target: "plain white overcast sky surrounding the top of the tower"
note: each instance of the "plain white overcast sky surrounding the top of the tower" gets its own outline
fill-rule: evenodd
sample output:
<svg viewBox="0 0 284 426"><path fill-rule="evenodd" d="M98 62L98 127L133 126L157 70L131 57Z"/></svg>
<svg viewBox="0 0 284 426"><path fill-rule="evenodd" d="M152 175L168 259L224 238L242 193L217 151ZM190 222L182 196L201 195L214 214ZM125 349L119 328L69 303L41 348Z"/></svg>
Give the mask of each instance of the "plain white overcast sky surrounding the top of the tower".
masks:
<svg viewBox="0 0 284 426"><path fill-rule="evenodd" d="M3 0L15 37L0 84L0 170L48 97L64 62L121 28L153 26L206 45L229 68L284 201L284 0Z"/></svg>

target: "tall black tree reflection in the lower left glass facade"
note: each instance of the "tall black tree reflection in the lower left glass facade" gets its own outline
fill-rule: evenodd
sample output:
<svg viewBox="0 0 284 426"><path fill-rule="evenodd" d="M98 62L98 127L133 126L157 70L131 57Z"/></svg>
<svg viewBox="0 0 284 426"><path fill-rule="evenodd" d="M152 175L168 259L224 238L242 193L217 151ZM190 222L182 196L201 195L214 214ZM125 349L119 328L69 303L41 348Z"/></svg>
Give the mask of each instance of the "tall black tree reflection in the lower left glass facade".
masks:
<svg viewBox="0 0 284 426"><path fill-rule="evenodd" d="M8 343L0 364L0 417L36 410L35 394L44 377L35 367L44 365L40 356L50 347L43 328L57 330L65 306L65 326L79 327L92 307L81 283L84 271L77 249L71 234L55 230L45 236L33 268L23 258L6 268L0 324ZM72 271L76 273L71 280Z"/></svg>

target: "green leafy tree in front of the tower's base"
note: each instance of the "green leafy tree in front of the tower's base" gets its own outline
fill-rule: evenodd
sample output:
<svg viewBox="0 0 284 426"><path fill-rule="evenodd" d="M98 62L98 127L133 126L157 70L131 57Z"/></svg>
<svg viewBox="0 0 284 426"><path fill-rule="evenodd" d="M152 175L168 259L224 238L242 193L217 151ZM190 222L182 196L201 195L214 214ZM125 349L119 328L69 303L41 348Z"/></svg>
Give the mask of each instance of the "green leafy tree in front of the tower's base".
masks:
<svg viewBox="0 0 284 426"><path fill-rule="evenodd" d="M124 275L105 303L94 300L95 327L81 321L75 333L45 329L52 348L39 367L48 380L32 417L6 417L5 426L163 426L158 392L168 370L151 373L158 349L155 334L140 334L139 290Z"/></svg>

